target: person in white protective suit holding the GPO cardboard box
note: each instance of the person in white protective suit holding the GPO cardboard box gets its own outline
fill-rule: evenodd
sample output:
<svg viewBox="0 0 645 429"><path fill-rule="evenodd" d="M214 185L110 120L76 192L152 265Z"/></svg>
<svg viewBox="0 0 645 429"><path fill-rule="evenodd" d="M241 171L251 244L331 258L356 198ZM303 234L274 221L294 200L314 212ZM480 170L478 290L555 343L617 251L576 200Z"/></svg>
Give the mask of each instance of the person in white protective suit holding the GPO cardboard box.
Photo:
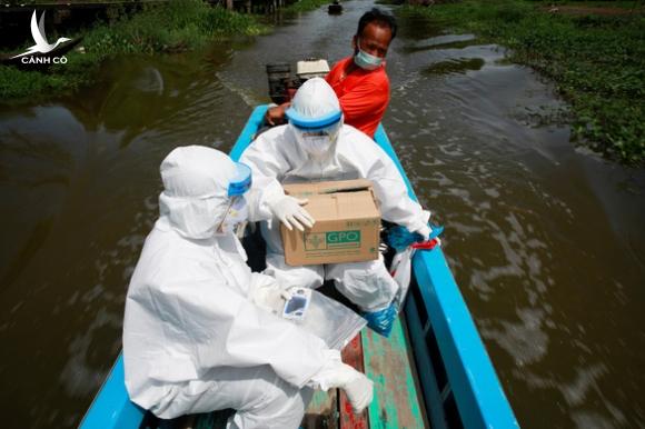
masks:
<svg viewBox="0 0 645 429"><path fill-rule="evenodd" d="M288 124L260 134L244 152L241 162L254 171L254 187L266 191L274 219L262 225L267 241L266 273L287 286L317 288L334 280L336 288L369 315L389 311L398 285L383 262L290 267L285 262L279 233L281 221L302 230L314 222L299 201L277 183L369 179L383 219L401 225L428 239L429 212L411 200L395 163L369 137L343 123L336 93L320 78L306 81L286 112ZM370 325L371 327L371 325Z"/></svg>

